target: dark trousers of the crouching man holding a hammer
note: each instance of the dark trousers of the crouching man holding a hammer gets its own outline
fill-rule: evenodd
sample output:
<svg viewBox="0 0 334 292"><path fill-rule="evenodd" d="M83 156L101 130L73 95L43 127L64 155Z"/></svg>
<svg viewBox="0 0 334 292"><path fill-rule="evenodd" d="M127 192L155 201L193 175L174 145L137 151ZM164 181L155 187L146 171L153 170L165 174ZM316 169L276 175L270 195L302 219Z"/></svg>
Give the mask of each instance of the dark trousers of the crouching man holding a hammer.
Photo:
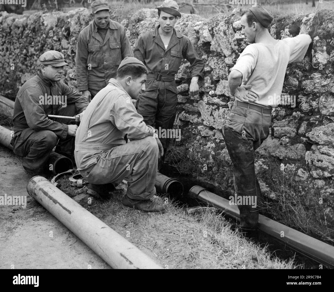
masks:
<svg viewBox="0 0 334 292"><path fill-rule="evenodd" d="M33 114L33 113L32 113ZM73 117L76 115L75 104L67 104L66 107L60 108L58 116ZM73 120L52 119L55 122L66 125L74 124ZM56 134L49 130L36 131L31 128L24 129L15 134L11 140L13 152L23 157L22 166L30 174L43 174L48 165L46 162L49 155L56 146L55 152L70 157L72 151L73 137L67 136L65 139L58 139Z"/></svg>

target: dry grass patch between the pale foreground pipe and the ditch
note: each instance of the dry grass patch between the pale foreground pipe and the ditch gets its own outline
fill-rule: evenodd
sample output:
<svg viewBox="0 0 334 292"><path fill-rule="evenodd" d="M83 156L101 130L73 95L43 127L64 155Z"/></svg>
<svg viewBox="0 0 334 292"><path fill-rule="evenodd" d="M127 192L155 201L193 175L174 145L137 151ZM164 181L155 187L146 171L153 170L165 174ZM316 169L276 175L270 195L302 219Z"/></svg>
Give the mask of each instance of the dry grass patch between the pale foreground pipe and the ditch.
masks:
<svg viewBox="0 0 334 292"><path fill-rule="evenodd" d="M126 185L104 203L79 203L168 269L294 269L293 261L271 258L266 248L240 237L212 208L188 215L173 202L165 214L145 213L121 203ZM160 203L166 198L156 198Z"/></svg>

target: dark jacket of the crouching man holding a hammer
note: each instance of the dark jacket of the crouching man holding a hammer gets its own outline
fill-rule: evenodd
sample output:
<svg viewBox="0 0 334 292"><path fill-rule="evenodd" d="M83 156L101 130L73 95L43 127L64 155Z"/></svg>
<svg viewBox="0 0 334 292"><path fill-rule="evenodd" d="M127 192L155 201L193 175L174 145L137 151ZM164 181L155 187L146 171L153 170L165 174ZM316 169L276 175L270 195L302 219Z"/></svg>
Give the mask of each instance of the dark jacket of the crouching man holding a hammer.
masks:
<svg viewBox="0 0 334 292"><path fill-rule="evenodd" d="M48 96L52 96L52 99ZM56 99L53 97L56 97ZM57 100L57 102L54 102L54 100ZM47 115L57 115L58 110L64 106L64 104L58 102L59 100L64 100L66 102L65 106L75 103L78 114L85 110L89 104L87 98L79 92L74 91L61 81L50 81L43 77L40 72L25 82L15 98L13 116L15 136L22 130L31 128L36 131L49 130L56 134L58 138L65 139L68 125L47 118Z"/></svg>

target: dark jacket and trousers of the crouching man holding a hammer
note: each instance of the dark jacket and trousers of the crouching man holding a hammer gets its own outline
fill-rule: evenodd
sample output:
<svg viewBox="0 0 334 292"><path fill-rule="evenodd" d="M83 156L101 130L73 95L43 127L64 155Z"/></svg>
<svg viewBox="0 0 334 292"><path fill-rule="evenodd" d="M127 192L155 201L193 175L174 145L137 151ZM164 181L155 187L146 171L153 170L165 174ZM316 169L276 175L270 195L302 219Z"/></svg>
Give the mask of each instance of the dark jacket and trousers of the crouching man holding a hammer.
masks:
<svg viewBox="0 0 334 292"><path fill-rule="evenodd" d="M52 99L45 99L45 94ZM53 96L57 98L53 99ZM45 104L45 100L49 104ZM62 100L66 102L65 106L59 103ZM67 124L73 122L49 120L47 115L73 117L85 110L88 104L80 93L63 82L51 82L40 72L22 85L15 99L11 145L16 155L23 156L23 168L28 173L44 172L44 165L58 141L56 152L68 157L71 155L72 137L67 135Z"/></svg>

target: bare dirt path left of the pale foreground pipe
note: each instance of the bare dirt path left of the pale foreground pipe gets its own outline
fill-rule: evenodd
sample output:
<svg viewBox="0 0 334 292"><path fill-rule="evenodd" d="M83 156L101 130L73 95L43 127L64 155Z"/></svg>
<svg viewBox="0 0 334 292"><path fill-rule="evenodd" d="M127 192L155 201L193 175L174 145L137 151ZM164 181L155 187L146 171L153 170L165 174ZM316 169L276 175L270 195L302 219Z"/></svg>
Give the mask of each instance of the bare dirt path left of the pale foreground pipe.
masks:
<svg viewBox="0 0 334 292"><path fill-rule="evenodd" d="M111 269L28 195L28 180L20 158L0 145L0 196L27 199L26 208L0 205L0 269Z"/></svg>

